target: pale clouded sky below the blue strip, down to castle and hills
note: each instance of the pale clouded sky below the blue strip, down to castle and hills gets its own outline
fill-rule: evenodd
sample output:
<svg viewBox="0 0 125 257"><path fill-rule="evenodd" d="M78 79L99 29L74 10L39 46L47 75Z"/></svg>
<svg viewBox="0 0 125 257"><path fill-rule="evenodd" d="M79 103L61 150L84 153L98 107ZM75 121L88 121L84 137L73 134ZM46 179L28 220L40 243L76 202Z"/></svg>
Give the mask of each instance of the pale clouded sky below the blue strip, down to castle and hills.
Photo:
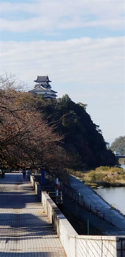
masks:
<svg viewBox="0 0 125 257"><path fill-rule="evenodd" d="M58 96L88 104L105 140L124 134L124 37L66 41L1 42L1 73L15 73L29 86L49 75Z"/></svg>

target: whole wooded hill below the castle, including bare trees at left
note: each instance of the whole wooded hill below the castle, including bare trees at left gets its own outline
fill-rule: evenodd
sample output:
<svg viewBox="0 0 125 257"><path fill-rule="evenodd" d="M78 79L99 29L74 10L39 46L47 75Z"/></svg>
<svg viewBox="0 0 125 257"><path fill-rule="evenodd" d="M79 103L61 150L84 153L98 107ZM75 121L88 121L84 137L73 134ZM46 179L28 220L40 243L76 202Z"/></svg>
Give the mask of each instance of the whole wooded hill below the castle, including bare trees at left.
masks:
<svg viewBox="0 0 125 257"><path fill-rule="evenodd" d="M33 97L8 88L8 80L1 85L0 163L5 168L57 171L116 164L86 104L76 104L68 95L54 101Z"/></svg>

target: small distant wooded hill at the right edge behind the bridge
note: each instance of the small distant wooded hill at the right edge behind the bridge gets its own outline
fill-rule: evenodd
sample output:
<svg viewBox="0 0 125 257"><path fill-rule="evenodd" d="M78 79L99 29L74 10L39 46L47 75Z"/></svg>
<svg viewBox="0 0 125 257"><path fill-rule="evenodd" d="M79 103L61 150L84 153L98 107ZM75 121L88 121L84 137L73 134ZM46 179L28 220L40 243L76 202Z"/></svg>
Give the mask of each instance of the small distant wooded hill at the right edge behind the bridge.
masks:
<svg viewBox="0 0 125 257"><path fill-rule="evenodd" d="M120 151L121 155L125 154L125 136L119 136L112 142L110 149L114 151Z"/></svg>

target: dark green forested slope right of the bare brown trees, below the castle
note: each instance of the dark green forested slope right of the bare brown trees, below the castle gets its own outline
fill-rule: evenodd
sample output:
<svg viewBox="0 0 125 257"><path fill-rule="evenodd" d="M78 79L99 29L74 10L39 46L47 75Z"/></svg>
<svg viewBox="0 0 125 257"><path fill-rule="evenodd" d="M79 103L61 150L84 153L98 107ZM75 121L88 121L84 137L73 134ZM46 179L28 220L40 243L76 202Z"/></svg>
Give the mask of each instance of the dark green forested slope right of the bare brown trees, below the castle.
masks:
<svg viewBox="0 0 125 257"><path fill-rule="evenodd" d="M99 126L93 123L86 112L86 104L76 104L66 94L44 108L48 114L56 116L56 120L67 113L56 129L59 133L66 135L65 144L61 146L75 158L77 156L76 159L80 159L85 168L114 166L117 163L112 151L107 150L107 144Z"/></svg>

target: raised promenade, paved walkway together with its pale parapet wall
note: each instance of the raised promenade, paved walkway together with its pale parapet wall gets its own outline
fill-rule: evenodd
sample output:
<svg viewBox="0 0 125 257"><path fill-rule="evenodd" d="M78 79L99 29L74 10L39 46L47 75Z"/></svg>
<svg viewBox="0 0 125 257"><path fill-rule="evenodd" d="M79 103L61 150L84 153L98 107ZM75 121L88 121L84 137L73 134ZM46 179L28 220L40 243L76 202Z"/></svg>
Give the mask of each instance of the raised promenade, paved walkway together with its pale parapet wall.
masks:
<svg viewBox="0 0 125 257"><path fill-rule="evenodd" d="M125 256L125 236L78 235L35 177L27 175L24 181L19 172L0 179L1 257Z"/></svg>

